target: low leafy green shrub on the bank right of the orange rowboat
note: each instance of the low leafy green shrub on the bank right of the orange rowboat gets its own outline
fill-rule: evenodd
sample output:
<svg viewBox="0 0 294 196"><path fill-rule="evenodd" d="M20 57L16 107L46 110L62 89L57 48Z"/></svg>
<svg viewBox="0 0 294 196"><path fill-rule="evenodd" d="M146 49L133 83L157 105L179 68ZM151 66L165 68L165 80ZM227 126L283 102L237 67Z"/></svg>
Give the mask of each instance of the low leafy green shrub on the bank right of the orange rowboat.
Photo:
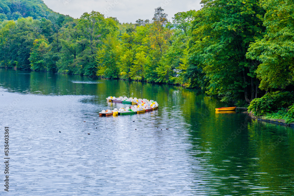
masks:
<svg viewBox="0 0 294 196"><path fill-rule="evenodd" d="M254 115L266 115L279 108L288 108L294 104L293 95L293 92L288 91L267 93L261 98L253 99L248 107L248 112L252 111ZM294 113L294 107L292 110Z"/></svg>

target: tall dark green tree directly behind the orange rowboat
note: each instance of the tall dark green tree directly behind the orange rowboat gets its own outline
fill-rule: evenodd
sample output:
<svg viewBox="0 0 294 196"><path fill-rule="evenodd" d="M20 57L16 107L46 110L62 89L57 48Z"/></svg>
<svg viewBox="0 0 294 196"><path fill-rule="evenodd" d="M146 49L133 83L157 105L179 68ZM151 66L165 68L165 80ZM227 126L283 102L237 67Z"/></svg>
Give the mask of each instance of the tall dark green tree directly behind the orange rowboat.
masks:
<svg viewBox="0 0 294 196"><path fill-rule="evenodd" d="M190 41L190 64L201 67L209 80L210 95L222 100L257 96L257 64L245 56L250 42L263 35L264 10L258 1L202 1Z"/></svg>

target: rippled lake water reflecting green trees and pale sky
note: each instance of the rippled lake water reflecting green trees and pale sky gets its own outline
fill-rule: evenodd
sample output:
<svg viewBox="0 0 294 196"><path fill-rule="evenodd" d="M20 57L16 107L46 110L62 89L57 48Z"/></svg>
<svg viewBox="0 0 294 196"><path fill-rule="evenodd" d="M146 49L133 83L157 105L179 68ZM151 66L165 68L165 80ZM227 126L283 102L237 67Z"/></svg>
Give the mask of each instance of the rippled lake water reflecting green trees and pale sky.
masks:
<svg viewBox="0 0 294 196"><path fill-rule="evenodd" d="M128 106L108 96L159 108L99 117ZM294 195L293 129L222 106L178 86L0 69L0 195Z"/></svg>

